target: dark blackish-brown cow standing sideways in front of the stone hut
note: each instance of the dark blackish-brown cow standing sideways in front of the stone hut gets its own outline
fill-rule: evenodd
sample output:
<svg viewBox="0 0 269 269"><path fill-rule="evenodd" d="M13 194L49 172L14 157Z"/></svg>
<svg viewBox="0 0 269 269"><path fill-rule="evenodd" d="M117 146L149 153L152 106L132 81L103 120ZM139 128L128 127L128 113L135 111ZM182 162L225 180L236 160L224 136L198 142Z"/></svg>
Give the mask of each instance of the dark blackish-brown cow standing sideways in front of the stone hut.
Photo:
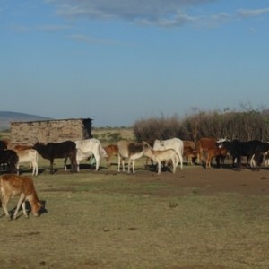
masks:
<svg viewBox="0 0 269 269"><path fill-rule="evenodd" d="M50 173L53 174L53 162L57 158L65 158L66 161L69 158L71 161L72 171L77 170L76 162L76 147L73 141L65 141L61 143L36 143L33 146L33 149L38 151L39 154L44 158L50 161Z"/></svg>

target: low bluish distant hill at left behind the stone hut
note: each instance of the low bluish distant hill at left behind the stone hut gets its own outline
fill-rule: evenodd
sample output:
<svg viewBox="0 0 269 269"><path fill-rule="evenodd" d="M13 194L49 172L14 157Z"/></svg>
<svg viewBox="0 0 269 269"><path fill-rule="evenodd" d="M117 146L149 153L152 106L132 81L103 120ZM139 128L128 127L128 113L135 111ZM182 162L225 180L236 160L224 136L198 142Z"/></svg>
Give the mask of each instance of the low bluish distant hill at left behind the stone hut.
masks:
<svg viewBox="0 0 269 269"><path fill-rule="evenodd" d="M35 121L35 120L47 120L47 119L52 118L30 115L20 112L0 111L0 130L9 129L10 123L12 121Z"/></svg>

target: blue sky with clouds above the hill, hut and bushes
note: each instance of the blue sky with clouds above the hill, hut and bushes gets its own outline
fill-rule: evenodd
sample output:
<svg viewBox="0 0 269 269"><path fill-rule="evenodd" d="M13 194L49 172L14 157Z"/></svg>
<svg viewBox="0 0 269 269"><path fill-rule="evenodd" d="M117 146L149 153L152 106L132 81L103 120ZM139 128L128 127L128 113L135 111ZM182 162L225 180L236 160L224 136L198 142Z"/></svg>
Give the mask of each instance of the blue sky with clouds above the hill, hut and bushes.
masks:
<svg viewBox="0 0 269 269"><path fill-rule="evenodd" d="M0 0L0 111L93 126L268 108L268 0Z"/></svg>

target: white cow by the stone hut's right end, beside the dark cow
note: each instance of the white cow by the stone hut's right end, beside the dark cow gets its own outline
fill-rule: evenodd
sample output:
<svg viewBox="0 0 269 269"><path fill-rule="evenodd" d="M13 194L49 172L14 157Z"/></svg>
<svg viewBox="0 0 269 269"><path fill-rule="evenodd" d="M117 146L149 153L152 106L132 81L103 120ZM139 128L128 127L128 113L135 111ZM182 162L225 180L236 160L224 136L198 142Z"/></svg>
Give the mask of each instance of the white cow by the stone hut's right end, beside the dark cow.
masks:
<svg viewBox="0 0 269 269"><path fill-rule="evenodd" d="M100 167L100 158L102 156L102 146L98 139L89 138L75 141L77 155L77 171L80 171L80 161L89 159L92 155L95 158L95 169L98 171Z"/></svg>

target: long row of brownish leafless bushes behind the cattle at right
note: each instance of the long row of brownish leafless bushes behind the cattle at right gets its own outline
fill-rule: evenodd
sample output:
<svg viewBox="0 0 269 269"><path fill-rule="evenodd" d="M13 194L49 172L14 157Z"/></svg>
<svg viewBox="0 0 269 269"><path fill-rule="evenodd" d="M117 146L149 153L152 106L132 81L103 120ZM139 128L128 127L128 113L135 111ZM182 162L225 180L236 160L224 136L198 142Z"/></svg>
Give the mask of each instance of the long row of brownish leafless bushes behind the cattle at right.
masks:
<svg viewBox="0 0 269 269"><path fill-rule="evenodd" d="M269 110L199 111L184 118L151 117L134 123L137 141L153 143L155 139L178 137L197 142L201 137L240 141L269 141Z"/></svg>

